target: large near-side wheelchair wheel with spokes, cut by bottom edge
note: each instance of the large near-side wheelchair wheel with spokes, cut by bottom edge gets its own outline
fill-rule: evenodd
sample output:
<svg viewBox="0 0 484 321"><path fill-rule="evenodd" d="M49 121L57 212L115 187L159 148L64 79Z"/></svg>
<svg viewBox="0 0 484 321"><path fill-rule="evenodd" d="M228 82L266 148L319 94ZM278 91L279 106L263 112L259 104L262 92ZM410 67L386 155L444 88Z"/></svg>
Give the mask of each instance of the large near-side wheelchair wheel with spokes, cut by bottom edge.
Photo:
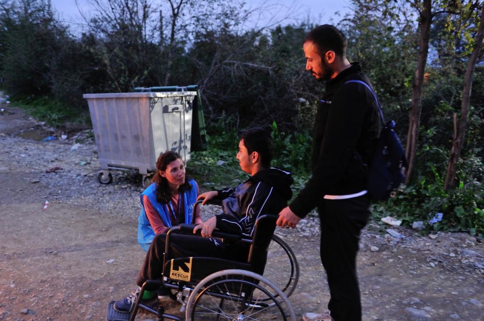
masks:
<svg viewBox="0 0 484 321"><path fill-rule="evenodd" d="M241 269L218 271L202 279L188 297L185 318L296 321L289 299L276 285L264 276Z"/></svg>

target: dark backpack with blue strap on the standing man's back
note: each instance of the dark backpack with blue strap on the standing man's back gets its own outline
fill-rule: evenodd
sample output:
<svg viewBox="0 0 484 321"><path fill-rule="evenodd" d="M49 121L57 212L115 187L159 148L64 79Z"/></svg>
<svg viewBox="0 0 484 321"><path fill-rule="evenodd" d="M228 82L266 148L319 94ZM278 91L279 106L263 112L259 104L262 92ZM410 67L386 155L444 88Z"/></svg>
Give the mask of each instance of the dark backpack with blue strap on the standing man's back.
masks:
<svg viewBox="0 0 484 321"><path fill-rule="evenodd" d="M407 166L405 149L394 130L395 121L390 120L385 124L380 103L371 87L361 80L349 80L345 83L348 82L361 83L367 87L373 94L378 105L378 110L380 111L380 118L384 127L380 131L375 151L373 152L370 162L367 164L368 178L366 188L371 199L387 200L388 198L395 196L396 191L405 181L405 174L403 173L403 167ZM361 159L359 154L357 156Z"/></svg>

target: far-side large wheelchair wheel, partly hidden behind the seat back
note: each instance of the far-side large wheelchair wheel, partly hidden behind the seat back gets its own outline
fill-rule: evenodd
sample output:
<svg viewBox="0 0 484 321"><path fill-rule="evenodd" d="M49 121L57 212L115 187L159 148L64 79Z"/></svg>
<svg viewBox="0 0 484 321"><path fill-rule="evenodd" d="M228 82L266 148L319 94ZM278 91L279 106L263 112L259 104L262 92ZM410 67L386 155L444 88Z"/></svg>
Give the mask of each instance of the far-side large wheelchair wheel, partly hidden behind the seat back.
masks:
<svg viewBox="0 0 484 321"><path fill-rule="evenodd" d="M287 297L291 296L298 285L299 263L296 255L291 247L277 235L272 236L271 244L269 244L264 277L276 284Z"/></svg>

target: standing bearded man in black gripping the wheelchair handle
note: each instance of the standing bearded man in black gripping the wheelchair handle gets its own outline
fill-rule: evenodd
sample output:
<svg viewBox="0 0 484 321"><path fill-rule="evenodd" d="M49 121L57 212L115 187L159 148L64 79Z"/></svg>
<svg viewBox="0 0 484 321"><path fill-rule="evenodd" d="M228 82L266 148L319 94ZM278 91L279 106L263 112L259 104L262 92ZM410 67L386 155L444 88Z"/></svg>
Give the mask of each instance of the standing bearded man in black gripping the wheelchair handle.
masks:
<svg viewBox="0 0 484 321"><path fill-rule="evenodd" d="M333 25L311 30L304 39L306 69L326 91L313 131L312 176L305 187L279 213L277 224L296 227L318 208L321 221L321 262L326 270L330 311L308 312L304 321L360 321L361 298L356 254L361 229L370 216L366 163L379 131L379 111L371 86L358 62L346 58L347 40Z"/></svg>

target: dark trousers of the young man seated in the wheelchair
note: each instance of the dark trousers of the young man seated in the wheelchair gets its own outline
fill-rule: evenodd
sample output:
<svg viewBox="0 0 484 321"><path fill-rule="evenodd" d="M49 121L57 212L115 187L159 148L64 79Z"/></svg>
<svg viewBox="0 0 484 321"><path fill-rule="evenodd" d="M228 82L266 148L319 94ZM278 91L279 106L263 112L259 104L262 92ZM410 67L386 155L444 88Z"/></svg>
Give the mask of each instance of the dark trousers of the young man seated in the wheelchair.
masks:
<svg viewBox="0 0 484 321"><path fill-rule="evenodd" d="M159 279L163 276L163 253L165 252L166 234L158 234L151 242L138 274L136 283L142 286L148 279ZM170 236L169 257L206 256L235 260L233 251L226 248L221 239L172 233ZM155 288L146 288L155 290Z"/></svg>

